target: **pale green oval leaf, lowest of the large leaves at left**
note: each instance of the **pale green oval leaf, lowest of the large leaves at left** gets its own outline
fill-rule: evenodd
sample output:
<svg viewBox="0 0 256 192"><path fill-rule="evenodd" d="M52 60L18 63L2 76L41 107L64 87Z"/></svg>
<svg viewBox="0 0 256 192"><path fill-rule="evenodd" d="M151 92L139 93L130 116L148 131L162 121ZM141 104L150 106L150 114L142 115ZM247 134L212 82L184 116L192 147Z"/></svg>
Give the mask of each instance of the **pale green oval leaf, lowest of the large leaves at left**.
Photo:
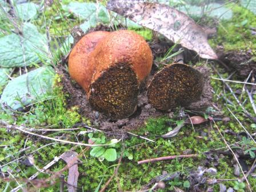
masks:
<svg viewBox="0 0 256 192"><path fill-rule="evenodd" d="M9 81L3 90L2 101L15 110L47 98L46 93L53 86L54 73L51 67L40 67Z"/></svg>

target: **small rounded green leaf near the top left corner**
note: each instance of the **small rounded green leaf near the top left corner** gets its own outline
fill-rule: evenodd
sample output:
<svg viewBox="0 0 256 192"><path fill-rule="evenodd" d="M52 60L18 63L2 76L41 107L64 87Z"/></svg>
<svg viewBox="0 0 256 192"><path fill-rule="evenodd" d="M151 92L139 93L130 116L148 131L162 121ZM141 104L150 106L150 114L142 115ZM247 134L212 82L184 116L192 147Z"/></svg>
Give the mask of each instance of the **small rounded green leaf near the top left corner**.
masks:
<svg viewBox="0 0 256 192"><path fill-rule="evenodd" d="M35 3L21 3L15 6L19 18L23 21L29 21L37 16L39 6Z"/></svg>

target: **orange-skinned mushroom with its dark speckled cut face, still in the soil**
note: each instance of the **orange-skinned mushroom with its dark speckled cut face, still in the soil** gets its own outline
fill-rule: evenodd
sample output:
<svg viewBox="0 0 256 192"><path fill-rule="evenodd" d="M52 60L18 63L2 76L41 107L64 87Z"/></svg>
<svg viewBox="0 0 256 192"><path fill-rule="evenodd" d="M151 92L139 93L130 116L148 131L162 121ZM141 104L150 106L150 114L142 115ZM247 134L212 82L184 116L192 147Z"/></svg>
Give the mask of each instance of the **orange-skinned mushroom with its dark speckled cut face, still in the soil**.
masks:
<svg viewBox="0 0 256 192"><path fill-rule="evenodd" d="M129 117L137 106L139 85L151 71L153 55L145 39L133 31L102 36L93 50L86 49L90 53L79 51L90 41L78 42L69 68L79 78L70 75L85 89L94 109L113 119Z"/></svg>

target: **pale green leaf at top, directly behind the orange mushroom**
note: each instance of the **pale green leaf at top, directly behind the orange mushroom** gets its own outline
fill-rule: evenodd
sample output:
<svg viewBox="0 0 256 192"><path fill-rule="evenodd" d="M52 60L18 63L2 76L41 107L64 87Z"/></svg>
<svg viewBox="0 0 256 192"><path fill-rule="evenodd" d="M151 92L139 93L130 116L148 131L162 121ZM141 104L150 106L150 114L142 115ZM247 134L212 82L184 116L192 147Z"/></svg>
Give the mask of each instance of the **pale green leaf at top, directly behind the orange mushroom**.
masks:
<svg viewBox="0 0 256 192"><path fill-rule="evenodd" d="M63 8L77 17L85 19L85 22L80 26L85 32L90 29L90 27L95 27L98 23L106 24L110 22L106 7L99 3L70 2L69 5Z"/></svg>

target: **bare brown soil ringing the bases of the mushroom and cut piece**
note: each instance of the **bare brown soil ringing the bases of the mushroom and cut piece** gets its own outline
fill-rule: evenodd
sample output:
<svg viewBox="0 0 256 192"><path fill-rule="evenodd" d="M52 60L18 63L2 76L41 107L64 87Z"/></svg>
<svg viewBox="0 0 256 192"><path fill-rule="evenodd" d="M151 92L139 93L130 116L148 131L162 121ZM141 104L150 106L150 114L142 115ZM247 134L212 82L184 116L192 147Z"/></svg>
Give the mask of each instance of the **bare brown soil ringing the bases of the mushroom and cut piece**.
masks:
<svg viewBox="0 0 256 192"><path fill-rule="evenodd" d="M102 30L102 29L101 29ZM158 51L159 54L159 51ZM67 65L67 63L65 63ZM66 71L65 65L59 64L57 66L57 73L62 77L63 92L67 93L67 107L72 106L79 107L79 114L90 119L92 125L98 129L113 131L113 133L125 133L127 130L138 129L145 125L145 122L150 117L159 117L161 115L168 115L171 111L159 111L154 109L147 99L147 86L149 85L153 75L156 73L155 66L151 70L151 74L140 87L140 93L138 95L137 110L129 118L113 120L106 115L95 111L87 101L85 91L73 80L70 79L70 75ZM190 110L202 110L211 105L211 90L210 86L210 70L206 67L197 67L202 72L205 85L203 87L203 94L201 101L192 103L187 109Z"/></svg>

